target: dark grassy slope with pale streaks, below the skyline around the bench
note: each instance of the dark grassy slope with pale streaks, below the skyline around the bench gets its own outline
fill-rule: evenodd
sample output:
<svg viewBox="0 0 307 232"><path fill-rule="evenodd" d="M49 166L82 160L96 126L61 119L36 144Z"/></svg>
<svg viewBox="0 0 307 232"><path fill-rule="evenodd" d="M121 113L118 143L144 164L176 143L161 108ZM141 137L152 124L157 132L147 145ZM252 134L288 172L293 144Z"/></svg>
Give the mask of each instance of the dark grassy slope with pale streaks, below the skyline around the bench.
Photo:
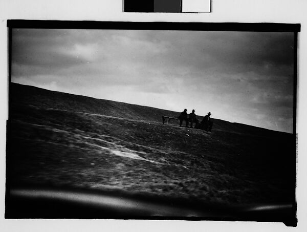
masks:
<svg viewBox="0 0 307 232"><path fill-rule="evenodd" d="M214 132L162 125L178 112L12 84L10 183L197 199L292 201L292 135L215 119ZM292 179L291 179L292 178Z"/></svg>

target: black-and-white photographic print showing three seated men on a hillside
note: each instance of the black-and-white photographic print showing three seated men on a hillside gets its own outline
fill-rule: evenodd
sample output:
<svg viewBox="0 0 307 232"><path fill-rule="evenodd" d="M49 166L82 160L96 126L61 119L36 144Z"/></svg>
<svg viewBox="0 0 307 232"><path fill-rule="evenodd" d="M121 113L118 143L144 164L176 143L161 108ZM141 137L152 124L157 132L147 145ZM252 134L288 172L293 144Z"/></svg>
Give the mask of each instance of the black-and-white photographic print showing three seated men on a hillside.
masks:
<svg viewBox="0 0 307 232"><path fill-rule="evenodd" d="M6 218L296 224L297 27L58 24L10 26Z"/></svg>

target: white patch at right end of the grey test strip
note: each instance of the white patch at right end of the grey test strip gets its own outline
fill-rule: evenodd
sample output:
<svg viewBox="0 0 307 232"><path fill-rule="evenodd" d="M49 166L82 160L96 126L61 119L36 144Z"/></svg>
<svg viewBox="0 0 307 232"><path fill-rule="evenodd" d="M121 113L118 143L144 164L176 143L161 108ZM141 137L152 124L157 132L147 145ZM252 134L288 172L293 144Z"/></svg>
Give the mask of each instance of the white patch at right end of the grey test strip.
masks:
<svg viewBox="0 0 307 232"><path fill-rule="evenodd" d="M210 13L210 0L182 0L183 13Z"/></svg>

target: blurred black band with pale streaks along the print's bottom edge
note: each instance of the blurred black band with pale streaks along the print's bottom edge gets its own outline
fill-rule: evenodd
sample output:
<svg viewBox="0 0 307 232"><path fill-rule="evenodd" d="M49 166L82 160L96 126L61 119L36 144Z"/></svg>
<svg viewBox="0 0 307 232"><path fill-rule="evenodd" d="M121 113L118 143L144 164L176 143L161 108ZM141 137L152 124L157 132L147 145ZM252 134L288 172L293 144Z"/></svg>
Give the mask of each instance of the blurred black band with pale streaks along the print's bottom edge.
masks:
<svg viewBox="0 0 307 232"><path fill-rule="evenodd" d="M7 218L282 221L296 225L292 204L205 204L120 192L37 187L12 189L9 199Z"/></svg>

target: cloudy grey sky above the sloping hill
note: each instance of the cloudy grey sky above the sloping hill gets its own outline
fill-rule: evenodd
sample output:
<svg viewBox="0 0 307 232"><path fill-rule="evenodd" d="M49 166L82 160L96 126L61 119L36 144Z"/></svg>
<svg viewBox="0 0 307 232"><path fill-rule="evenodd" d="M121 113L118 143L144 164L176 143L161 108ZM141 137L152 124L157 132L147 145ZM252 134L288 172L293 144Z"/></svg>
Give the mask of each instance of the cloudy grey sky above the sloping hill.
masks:
<svg viewBox="0 0 307 232"><path fill-rule="evenodd" d="M292 133L294 33L13 29L12 82Z"/></svg>

